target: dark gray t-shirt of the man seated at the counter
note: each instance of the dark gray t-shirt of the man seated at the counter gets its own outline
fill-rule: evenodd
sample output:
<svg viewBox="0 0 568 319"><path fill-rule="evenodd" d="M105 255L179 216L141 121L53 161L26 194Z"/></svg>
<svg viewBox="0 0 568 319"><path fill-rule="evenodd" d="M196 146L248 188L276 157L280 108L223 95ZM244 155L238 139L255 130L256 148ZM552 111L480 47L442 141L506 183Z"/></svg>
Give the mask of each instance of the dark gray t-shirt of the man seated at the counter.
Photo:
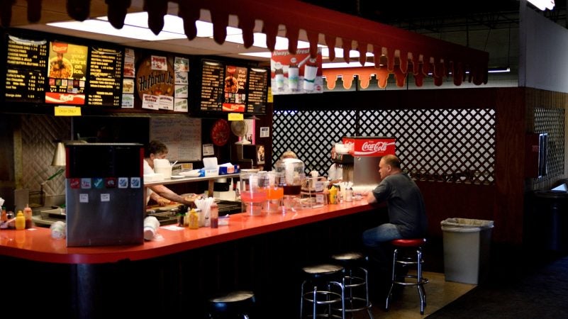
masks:
<svg viewBox="0 0 568 319"><path fill-rule="evenodd" d="M420 189L406 173L385 177L373 190L378 202L386 201L389 223L405 238L423 237L428 219Z"/></svg>

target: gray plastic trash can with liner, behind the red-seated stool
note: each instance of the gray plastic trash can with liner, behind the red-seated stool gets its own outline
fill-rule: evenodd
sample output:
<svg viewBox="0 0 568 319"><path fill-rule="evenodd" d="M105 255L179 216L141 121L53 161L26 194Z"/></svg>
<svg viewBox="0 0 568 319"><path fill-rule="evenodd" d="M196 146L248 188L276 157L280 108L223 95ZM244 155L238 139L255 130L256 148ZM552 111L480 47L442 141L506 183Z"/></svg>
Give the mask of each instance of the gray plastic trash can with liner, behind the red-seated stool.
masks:
<svg viewBox="0 0 568 319"><path fill-rule="evenodd" d="M447 218L440 223L445 280L479 284L489 274L493 220Z"/></svg>

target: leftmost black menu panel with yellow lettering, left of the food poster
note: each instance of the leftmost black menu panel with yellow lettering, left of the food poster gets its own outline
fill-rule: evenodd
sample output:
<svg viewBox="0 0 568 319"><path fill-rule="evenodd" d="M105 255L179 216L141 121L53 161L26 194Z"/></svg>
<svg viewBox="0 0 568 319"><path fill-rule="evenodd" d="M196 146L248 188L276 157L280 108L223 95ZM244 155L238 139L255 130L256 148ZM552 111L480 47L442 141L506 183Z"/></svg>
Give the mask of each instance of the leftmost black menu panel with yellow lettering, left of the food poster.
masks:
<svg viewBox="0 0 568 319"><path fill-rule="evenodd" d="M7 49L6 101L43 103L48 41L9 35Z"/></svg>

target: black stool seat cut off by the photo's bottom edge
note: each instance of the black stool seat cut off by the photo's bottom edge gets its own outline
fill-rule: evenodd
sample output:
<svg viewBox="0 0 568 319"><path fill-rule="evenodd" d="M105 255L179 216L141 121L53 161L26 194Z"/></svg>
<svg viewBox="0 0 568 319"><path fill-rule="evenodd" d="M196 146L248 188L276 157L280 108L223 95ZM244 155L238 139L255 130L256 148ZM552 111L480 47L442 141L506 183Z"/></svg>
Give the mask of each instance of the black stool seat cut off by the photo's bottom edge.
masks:
<svg viewBox="0 0 568 319"><path fill-rule="evenodd" d="M255 304L252 291L231 291L209 299L211 319L249 319Z"/></svg>

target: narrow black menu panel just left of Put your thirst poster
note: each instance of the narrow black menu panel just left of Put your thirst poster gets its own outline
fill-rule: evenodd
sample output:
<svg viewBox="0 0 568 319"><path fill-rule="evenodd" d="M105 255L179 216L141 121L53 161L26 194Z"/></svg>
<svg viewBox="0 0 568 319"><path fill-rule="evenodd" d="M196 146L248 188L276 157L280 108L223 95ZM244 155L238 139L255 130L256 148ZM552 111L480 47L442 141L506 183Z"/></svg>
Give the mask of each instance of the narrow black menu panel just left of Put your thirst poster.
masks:
<svg viewBox="0 0 568 319"><path fill-rule="evenodd" d="M224 66L204 61L201 67L201 111L223 111Z"/></svg>

